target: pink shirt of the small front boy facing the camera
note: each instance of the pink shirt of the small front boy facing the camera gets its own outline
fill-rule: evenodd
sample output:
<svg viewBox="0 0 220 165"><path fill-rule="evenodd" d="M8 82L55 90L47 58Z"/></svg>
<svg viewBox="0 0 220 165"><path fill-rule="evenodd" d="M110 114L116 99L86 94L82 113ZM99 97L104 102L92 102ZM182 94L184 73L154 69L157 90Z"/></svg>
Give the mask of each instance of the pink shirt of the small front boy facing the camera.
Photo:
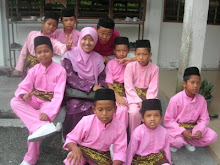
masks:
<svg viewBox="0 0 220 165"><path fill-rule="evenodd" d="M159 153L161 150L164 151L167 160L171 164L168 131L161 125L152 130L147 128L145 124L141 124L131 135L125 164L131 165L135 154L139 156L147 156L152 153Z"/></svg>

